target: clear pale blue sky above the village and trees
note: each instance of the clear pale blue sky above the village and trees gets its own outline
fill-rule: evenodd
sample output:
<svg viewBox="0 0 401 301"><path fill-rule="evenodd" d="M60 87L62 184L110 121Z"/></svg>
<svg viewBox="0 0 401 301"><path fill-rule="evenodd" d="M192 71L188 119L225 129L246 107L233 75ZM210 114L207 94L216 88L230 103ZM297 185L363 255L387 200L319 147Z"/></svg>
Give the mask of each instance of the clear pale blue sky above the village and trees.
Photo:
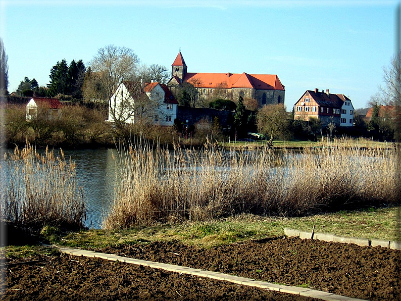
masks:
<svg viewBox="0 0 401 301"><path fill-rule="evenodd" d="M9 91L49 83L63 59L88 67L97 50L131 48L141 64L188 72L277 74L291 111L306 90L368 106L395 53L398 1L0 0Z"/></svg>

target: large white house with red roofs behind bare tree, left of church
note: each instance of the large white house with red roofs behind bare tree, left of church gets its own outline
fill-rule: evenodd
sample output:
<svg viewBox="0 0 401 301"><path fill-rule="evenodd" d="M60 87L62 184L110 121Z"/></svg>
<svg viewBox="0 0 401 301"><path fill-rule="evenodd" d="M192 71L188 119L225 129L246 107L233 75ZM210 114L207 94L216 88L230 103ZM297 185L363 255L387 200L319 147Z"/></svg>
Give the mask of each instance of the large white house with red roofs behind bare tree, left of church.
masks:
<svg viewBox="0 0 401 301"><path fill-rule="evenodd" d="M151 122L172 126L177 118L174 95L165 84L123 81L110 99L109 122Z"/></svg>

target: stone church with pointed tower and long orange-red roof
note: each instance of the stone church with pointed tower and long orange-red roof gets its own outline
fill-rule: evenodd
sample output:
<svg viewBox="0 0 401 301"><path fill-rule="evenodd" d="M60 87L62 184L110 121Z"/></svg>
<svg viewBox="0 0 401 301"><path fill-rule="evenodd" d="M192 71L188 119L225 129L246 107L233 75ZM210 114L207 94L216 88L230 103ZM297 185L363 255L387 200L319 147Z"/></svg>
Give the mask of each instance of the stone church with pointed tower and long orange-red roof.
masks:
<svg viewBox="0 0 401 301"><path fill-rule="evenodd" d="M229 99L237 102L238 97L257 100L259 107L271 104L284 104L284 85L275 74L248 73L194 73L187 72L181 52L171 65L171 79L167 85L174 89L184 82L197 89L198 97Z"/></svg>

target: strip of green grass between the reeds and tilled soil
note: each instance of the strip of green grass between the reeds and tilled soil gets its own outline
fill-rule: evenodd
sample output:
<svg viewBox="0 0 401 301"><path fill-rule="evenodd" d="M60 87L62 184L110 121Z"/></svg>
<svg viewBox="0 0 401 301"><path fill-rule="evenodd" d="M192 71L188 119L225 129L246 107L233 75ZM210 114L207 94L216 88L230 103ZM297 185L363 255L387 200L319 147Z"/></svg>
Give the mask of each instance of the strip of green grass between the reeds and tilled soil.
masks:
<svg viewBox="0 0 401 301"><path fill-rule="evenodd" d="M343 236L400 240L397 233L401 207L340 211L299 218L240 215L208 222L163 224L125 230L82 230L59 237L67 246L102 247L154 240L179 240L205 247L283 235L284 228L335 233ZM398 222L397 222L398 221Z"/></svg>

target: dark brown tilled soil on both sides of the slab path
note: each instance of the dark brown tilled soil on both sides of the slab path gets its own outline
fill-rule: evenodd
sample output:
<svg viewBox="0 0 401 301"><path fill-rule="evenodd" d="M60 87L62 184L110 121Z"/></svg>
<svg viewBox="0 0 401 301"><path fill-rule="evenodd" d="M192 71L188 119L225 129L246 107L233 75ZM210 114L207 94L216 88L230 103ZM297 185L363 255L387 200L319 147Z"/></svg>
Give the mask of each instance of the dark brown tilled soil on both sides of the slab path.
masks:
<svg viewBox="0 0 401 301"><path fill-rule="evenodd" d="M209 249L150 242L96 251L369 300L401 300L401 251L276 238ZM21 261L43 260L27 264ZM313 300L102 259L57 255L8 259L5 300ZM4 280L1 284L5 285Z"/></svg>

